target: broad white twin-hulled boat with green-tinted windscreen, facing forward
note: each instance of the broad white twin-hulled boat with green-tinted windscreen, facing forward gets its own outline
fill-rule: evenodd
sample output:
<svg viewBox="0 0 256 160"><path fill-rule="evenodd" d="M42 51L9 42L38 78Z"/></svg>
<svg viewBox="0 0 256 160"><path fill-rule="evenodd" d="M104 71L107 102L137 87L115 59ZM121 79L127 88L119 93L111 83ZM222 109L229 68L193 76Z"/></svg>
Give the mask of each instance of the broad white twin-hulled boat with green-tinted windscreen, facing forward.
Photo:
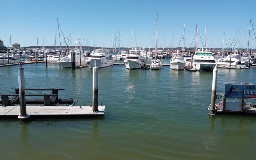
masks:
<svg viewBox="0 0 256 160"><path fill-rule="evenodd" d="M200 51L198 49L193 56L193 68L197 71L213 71L213 68L216 66L214 57L212 52L208 52L206 49L205 51Z"/></svg>

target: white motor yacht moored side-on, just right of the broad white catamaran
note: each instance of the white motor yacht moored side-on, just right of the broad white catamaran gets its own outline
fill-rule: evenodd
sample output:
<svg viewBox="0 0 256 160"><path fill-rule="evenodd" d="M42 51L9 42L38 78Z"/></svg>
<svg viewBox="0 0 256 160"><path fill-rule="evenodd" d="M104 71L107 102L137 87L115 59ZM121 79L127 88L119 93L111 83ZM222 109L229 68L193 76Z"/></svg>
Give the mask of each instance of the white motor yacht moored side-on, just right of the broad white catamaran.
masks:
<svg viewBox="0 0 256 160"><path fill-rule="evenodd" d="M226 58L222 59L222 61L218 61L218 67L220 68L229 68L229 64L231 68L235 69L247 69L247 63L242 63L244 59L241 58L240 54L231 54L231 61L230 61L230 55L228 55ZM231 63L230 63L231 62Z"/></svg>

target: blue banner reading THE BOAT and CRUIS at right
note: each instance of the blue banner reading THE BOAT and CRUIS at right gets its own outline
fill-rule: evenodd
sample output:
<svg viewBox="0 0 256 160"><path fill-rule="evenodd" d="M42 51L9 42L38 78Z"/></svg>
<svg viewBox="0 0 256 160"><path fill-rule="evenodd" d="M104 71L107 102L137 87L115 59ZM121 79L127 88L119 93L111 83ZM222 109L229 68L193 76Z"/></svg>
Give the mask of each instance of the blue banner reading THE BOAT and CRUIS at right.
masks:
<svg viewBox="0 0 256 160"><path fill-rule="evenodd" d="M255 85L225 85L226 98L256 98Z"/></svg>

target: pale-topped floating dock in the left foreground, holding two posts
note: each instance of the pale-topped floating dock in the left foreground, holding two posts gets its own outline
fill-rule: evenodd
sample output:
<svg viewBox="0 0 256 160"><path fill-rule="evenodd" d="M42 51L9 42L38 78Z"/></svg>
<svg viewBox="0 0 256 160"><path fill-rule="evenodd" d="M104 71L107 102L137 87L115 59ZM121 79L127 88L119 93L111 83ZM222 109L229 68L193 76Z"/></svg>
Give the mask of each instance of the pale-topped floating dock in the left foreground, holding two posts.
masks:
<svg viewBox="0 0 256 160"><path fill-rule="evenodd" d="M27 114L40 115L104 115L105 106L98 106L98 112L92 112L92 106L26 106ZM0 117L19 116L20 106L0 106Z"/></svg>

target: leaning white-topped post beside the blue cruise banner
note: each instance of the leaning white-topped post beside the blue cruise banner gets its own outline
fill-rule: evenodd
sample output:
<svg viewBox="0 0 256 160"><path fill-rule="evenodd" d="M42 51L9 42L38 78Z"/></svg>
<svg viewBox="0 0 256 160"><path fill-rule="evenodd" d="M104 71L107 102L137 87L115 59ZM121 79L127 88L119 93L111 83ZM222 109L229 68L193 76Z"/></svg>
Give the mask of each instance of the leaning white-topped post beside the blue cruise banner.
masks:
<svg viewBox="0 0 256 160"><path fill-rule="evenodd" d="M217 76L218 76L218 65L213 69L213 76L212 76L212 99L211 99L211 108L210 108L210 115L215 115L215 102L216 102L216 87L217 87Z"/></svg>

